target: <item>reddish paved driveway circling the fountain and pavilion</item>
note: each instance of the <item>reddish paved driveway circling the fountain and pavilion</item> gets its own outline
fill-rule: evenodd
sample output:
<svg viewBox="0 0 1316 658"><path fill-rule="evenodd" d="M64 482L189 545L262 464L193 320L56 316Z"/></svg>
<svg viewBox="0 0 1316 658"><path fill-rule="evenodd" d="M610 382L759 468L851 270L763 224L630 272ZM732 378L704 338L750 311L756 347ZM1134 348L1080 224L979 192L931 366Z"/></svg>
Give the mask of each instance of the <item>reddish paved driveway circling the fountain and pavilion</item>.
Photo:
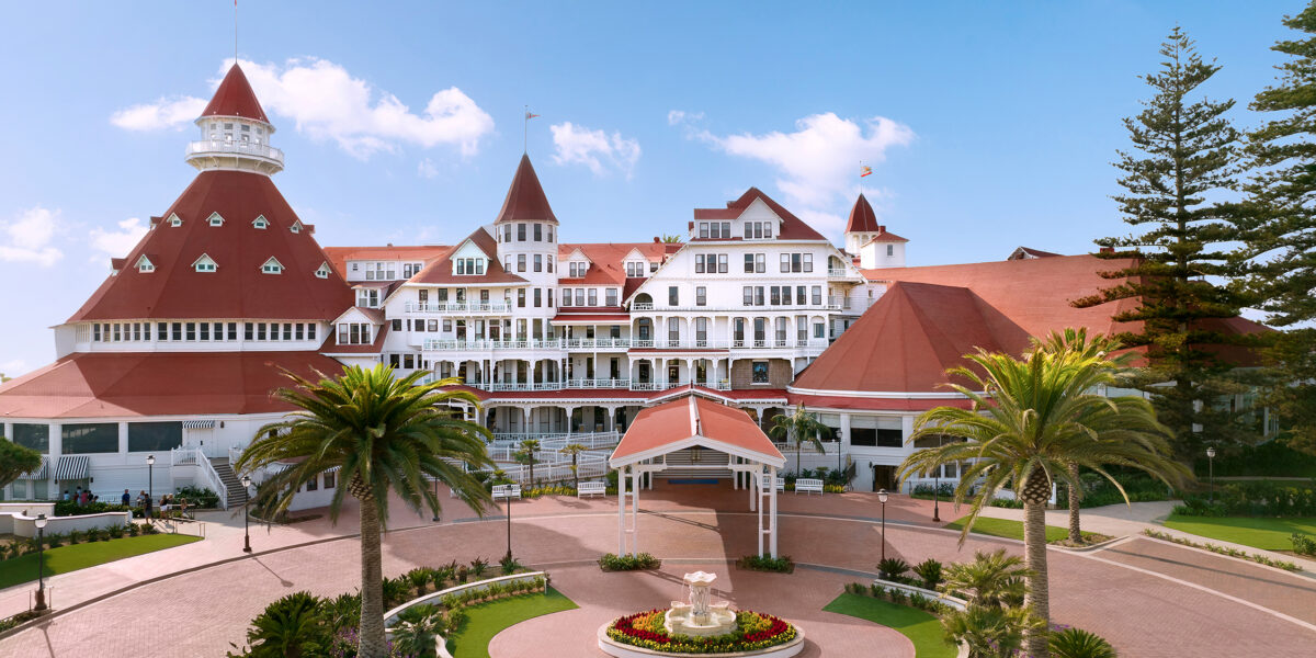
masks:
<svg viewBox="0 0 1316 658"><path fill-rule="evenodd" d="M588 565L616 550L616 499L513 504L517 557L549 567L554 584L582 609L513 626L495 640L492 655L599 655L587 649L599 624L625 611L679 599L679 574L754 550L757 519L747 512L746 499L745 492L725 486L659 484L658 491L642 492L641 550L667 561L659 574L601 574ZM780 496L780 512L782 551L833 571L800 569L782 576L719 566L719 595L799 621L811 637L808 655L912 654L903 638L887 629L820 611L854 579L834 570L873 571L883 544L888 557L908 562L928 557L963 561L971 559L974 550L995 547L1020 551L1019 542L980 536L970 537L961 549L958 533L929 525L930 501L903 496L887 504L886 537L875 522L880 507L871 494L787 494ZM951 517L946 507L942 512ZM449 559L497 557L505 550L500 517L476 522L472 512L455 503L442 524L397 505L391 517L395 530L384 541L387 575ZM224 530L208 530L212 540L205 542L58 576L57 605L67 609L68 592L83 587L108 591L109 580L142 580L143 574L164 572L170 566L188 569L208 557L241 555L241 517L237 525L221 521ZM407 525L413 528L399 529ZM268 533L261 529L253 534L258 551L318 542L142 584L8 637L0 641L0 655L224 655L230 642L242 642L247 621L275 597L296 590L337 595L355 588L358 545L351 538L332 541L354 526L354 509L347 509L338 528L320 519ZM125 569L142 558L153 558L150 566ZM703 562L683 562L688 559ZM1316 624L1303 613L1303 607L1309 609L1316 600L1316 587L1303 576L1152 540L1130 540L1087 554L1053 550L1050 567L1054 621L1105 636L1121 655L1303 655L1316 642ZM22 588L12 588L0 596L8 600L20 594ZM170 632L162 633L162 628ZM537 640L545 636L536 630L551 630L553 641ZM859 653L854 646L862 646Z"/></svg>

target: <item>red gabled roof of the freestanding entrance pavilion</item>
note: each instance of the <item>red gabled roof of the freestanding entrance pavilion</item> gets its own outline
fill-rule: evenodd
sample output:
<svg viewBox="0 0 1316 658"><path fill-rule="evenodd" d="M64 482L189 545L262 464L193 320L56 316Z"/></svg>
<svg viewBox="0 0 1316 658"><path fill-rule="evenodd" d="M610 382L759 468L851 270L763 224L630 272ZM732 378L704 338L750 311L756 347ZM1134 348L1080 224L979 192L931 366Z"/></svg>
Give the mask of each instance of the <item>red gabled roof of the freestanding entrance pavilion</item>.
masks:
<svg viewBox="0 0 1316 658"><path fill-rule="evenodd" d="M696 445L778 468L786 463L744 409L690 395L641 409L608 465L616 468Z"/></svg>

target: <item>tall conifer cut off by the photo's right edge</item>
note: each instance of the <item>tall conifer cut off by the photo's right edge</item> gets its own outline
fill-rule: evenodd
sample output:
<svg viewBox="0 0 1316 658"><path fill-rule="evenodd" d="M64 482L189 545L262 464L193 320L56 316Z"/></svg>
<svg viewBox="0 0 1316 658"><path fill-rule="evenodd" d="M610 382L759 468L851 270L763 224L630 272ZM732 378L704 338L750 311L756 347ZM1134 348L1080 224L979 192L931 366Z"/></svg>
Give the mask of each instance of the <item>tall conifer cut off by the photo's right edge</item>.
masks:
<svg viewBox="0 0 1316 658"><path fill-rule="evenodd" d="M1288 55L1278 84L1250 108L1267 122L1248 134L1250 176L1237 220L1246 246L1242 288L1257 296L1274 338L1274 386L1266 403L1280 415L1295 447L1316 453L1316 1L1284 25L1294 41L1271 50Z"/></svg>

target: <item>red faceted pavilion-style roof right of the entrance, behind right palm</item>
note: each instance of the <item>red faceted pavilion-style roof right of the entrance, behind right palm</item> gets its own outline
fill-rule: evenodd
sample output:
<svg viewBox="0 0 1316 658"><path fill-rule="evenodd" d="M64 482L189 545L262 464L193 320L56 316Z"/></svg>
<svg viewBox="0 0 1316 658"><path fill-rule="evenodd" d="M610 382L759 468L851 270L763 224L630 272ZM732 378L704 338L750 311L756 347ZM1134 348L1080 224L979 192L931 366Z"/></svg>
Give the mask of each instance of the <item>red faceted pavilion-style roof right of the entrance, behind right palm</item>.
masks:
<svg viewBox="0 0 1316 658"><path fill-rule="evenodd" d="M946 368L965 365L965 354L1021 354L1028 340L969 288L895 283L790 390L946 392Z"/></svg>

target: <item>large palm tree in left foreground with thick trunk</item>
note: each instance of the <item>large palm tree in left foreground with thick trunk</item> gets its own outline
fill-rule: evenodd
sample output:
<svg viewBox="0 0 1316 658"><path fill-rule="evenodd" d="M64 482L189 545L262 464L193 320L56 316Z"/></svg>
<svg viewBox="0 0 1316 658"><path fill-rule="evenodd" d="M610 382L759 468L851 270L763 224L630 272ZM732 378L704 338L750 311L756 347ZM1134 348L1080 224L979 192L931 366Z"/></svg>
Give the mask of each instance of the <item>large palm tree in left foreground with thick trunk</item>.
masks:
<svg viewBox="0 0 1316 658"><path fill-rule="evenodd" d="M447 390L455 379L417 384L424 372L393 379L393 368L345 367L337 378L322 374L311 382L291 371L292 387L274 396L297 408L280 422L268 424L242 453L238 472L254 472L272 463L296 462L266 479L254 504L279 513L307 482L338 467L338 487L329 517L338 520L345 495L361 503L361 640L358 655L384 658L383 574L379 533L388 524L388 494L413 509L441 511L426 476L453 488L476 513L490 494L467 468L491 467L487 429L470 422L450 403L478 407L468 392Z"/></svg>

